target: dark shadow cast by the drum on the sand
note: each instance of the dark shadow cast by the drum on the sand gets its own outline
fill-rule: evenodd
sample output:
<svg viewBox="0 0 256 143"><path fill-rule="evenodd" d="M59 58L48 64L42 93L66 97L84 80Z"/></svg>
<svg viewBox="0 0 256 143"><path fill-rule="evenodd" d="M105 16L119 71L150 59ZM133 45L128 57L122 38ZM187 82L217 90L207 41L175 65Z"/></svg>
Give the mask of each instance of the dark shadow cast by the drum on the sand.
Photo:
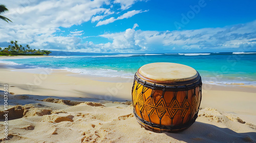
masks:
<svg viewBox="0 0 256 143"><path fill-rule="evenodd" d="M237 133L201 122L195 122L182 132L165 134L185 142L256 142L256 132Z"/></svg>

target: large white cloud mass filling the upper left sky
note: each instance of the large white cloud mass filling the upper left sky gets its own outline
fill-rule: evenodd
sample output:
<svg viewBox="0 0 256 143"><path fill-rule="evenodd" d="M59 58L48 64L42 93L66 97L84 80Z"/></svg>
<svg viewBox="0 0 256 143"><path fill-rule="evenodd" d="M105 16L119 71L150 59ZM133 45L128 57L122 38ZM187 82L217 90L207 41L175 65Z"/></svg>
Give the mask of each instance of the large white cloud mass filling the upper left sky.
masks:
<svg viewBox="0 0 256 143"><path fill-rule="evenodd" d="M73 25L81 25L91 20L96 14L110 13L109 9L102 8L104 4L110 5L109 0L5 1L2 4L9 9L9 12L4 15L13 22L0 21L0 43L17 40L20 44L34 45L32 48L38 48L35 45L40 45L40 49L41 45L59 43L59 40L71 42L67 46L62 44L62 48L68 48L75 43L72 42L73 36L79 36L81 33L71 33L61 38L55 36L55 32L60 31L59 27L69 28Z"/></svg>

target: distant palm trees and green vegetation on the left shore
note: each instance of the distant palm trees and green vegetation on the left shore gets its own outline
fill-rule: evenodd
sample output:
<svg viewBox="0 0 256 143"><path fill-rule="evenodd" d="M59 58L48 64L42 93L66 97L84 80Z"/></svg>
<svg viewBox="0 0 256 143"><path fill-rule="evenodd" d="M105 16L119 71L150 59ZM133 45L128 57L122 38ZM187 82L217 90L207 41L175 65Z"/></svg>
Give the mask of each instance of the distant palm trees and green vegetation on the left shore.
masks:
<svg viewBox="0 0 256 143"><path fill-rule="evenodd" d="M18 41L11 41L11 45L2 49L0 47L0 56L13 56L13 55L26 55L26 56L34 56L34 55L49 55L52 53L51 51L47 50L35 50L30 49L30 46L27 44L26 47L23 45L18 45Z"/></svg>

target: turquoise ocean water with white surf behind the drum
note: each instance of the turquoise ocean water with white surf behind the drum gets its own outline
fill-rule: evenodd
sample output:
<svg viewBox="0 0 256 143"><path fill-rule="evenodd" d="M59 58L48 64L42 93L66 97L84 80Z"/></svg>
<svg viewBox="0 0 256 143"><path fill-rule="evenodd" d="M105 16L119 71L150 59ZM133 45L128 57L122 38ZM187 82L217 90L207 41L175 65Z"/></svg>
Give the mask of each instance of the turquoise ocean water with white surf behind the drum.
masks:
<svg viewBox="0 0 256 143"><path fill-rule="evenodd" d="M133 78L147 63L174 62L198 70L204 83L256 85L256 53L84 54L22 58L0 62L15 68L55 68L97 77Z"/></svg>

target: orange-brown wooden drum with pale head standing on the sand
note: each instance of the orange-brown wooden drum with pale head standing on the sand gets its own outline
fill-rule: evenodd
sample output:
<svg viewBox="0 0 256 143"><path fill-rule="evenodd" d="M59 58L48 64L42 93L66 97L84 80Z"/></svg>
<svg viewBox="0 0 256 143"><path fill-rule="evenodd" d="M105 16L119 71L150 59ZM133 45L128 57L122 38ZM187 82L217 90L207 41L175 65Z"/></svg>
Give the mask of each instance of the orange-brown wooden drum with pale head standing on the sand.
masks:
<svg viewBox="0 0 256 143"><path fill-rule="evenodd" d="M146 64L134 76L132 98L134 115L142 127L154 132L182 131L198 116L201 77L183 64Z"/></svg>

